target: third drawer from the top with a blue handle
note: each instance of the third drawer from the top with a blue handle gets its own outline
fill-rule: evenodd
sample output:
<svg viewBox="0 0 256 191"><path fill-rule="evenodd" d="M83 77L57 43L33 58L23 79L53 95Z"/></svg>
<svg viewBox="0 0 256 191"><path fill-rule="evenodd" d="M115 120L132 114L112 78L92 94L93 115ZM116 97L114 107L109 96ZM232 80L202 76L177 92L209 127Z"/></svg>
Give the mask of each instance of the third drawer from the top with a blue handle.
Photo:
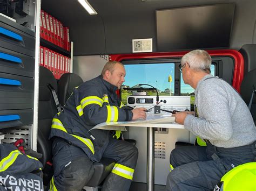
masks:
<svg viewBox="0 0 256 191"><path fill-rule="evenodd" d="M0 110L32 109L34 79L0 73Z"/></svg>

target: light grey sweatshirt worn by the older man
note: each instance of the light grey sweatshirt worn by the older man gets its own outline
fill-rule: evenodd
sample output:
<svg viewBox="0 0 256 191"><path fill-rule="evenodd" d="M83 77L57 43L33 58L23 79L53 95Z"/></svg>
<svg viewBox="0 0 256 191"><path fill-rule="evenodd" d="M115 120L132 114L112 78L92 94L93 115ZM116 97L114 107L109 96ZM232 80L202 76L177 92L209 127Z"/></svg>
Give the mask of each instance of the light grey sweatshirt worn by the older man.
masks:
<svg viewBox="0 0 256 191"><path fill-rule="evenodd" d="M218 147L238 147L256 140L252 115L240 95L224 80L201 79L195 90L198 117L185 118L186 129ZM206 80L207 79L207 80Z"/></svg>

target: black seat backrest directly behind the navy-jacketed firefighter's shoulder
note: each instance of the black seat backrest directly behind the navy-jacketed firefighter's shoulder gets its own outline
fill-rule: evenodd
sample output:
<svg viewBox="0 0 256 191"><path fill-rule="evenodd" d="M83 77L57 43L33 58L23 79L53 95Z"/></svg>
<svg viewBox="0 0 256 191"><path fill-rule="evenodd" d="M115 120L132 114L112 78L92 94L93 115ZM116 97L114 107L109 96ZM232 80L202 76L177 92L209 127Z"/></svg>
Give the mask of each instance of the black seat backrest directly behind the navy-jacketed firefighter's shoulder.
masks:
<svg viewBox="0 0 256 191"><path fill-rule="evenodd" d="M65 105L73 89L83 83L83 79L74 73L63 74L58 82L58 100L60 105Z"/></svg>

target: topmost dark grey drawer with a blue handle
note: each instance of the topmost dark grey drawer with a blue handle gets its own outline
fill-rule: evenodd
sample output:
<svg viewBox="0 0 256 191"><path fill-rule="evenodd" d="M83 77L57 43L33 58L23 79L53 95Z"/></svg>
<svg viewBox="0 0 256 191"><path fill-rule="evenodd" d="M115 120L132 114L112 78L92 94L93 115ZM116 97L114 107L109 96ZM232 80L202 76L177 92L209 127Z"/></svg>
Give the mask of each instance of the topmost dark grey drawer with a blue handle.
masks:
<svg viewBox="0 0 256 191"><path fill-rule="evenodd" d="M35 37L0 21L0 47L35 57Z"/></svg>

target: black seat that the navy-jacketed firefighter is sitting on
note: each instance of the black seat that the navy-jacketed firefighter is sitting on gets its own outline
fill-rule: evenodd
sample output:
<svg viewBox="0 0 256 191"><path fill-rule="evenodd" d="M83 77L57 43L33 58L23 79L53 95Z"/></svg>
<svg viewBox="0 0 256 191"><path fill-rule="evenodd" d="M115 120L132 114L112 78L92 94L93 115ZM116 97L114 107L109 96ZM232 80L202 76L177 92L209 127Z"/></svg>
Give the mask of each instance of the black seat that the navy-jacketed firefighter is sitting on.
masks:
<svg viewBox="0 0 256 191"><path fill-rule="evenodd" d="M73 73L63 74L58 82L58 99L59 103L64 106L69 96L72 94L73 89L83 83L80 76ZM109 158L102 158L100 162L93 164L95 172L91 180L87 183L88 187L98 187L100 183L112 171L116 161Z"/></svg>

